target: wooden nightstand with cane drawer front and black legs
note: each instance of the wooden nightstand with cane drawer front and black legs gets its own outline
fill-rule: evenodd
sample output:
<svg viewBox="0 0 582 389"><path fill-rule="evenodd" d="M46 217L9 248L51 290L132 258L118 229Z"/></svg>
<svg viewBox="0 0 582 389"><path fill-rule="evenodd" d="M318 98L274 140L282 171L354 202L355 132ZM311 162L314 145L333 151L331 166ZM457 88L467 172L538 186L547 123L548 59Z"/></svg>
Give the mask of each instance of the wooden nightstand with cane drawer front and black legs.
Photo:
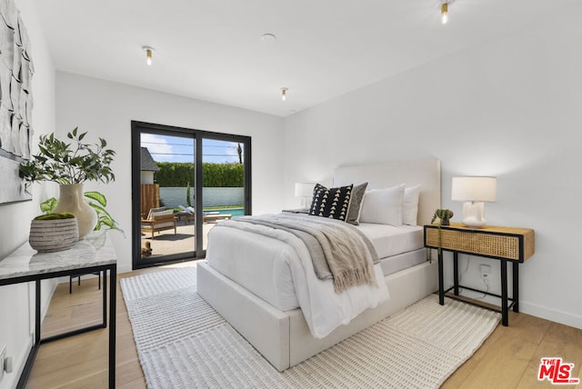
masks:
<svg viewBox="0 0 582 389"><path fill-rule="evenodd" d="M519 312L519 264L527 261L535 251L534 230L528 228L499 227L486 225L481 228L469 228L463 224L451 223L441 228L441 254L438 254L438 303L445 304L445 294L453 290L453 295L447 297L469 304L483 306L502 315L502 324L507 326L509 309ZM425 247L438 248L438 225L425 225ZM443 281L443 251L453 253L452 287L445 290ZM458 254L469 254L497 259L501 267L501 295L490 294L458 284ZM513 295L507 295L507 262L513 265ZM474 292L492 295L501 299L501 309L497 310L487 305L468 302L458 297L458 289L463 287Z"/></svg>

